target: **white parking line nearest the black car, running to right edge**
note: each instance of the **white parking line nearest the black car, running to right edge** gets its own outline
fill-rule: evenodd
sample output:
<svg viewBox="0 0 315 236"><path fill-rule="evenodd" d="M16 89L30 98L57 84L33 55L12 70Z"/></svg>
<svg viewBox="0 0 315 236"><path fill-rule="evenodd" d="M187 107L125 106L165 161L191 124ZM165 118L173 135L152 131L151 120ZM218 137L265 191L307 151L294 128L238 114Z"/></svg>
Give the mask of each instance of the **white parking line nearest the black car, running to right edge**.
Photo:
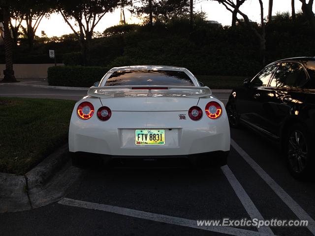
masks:
<svg viewBox="0 0 315 236"><path fill-rule="evenodd" d="M293 213L300 220L308 220L307 228L315 235L315 221L312 217L288 195L284 189L270 177L238 144L231 139L231 146L243 157L243 159L252 167L252 169L270 186L270 188L281 198L281 200L288 206Z"/></svg>

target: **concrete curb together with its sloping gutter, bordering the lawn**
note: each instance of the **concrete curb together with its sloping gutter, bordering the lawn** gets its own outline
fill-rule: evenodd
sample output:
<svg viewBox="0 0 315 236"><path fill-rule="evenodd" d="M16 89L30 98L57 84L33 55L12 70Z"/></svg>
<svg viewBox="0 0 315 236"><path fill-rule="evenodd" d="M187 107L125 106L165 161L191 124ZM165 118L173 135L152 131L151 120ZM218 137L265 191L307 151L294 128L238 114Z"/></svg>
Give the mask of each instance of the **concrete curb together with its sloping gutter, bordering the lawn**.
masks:
<svg viewBox="0 0 315 236"><path fill-rule="evenodd" d="M0 173L0 213L23 211L44 206L44 203L51 203L62 196L68 187L68 183L72 179L75 180L74 177L80 174L80 170L72 168L70 174L65 171L64 175L68 176L67 180L64 180L64 176L60 176L60 171L65 168L66 163L69 163L69 159L68 144L66 144L47 156L24 176ZM50 181L55 176L57 176L57 179L61 178L57 184L62 183L62 191L56 191L56 189L60 190L60 186L54 186L54 194L50 196L52 193L44 191L44 188L47 187L47 184L51 185ZM46 195L41 194L44 192ZM45 201L38 200L40 197L43 197Z"/></svg>

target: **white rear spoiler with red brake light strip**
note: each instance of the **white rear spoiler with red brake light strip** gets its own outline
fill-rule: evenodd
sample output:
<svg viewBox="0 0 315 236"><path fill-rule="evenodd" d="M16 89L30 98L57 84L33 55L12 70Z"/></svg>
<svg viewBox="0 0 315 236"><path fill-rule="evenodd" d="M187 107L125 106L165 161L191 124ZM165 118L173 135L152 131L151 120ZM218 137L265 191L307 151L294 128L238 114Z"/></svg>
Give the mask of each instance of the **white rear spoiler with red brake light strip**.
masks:
<svg viewBox="0 0 315 236"><path fill-rule="evenodd" d="M207 97L212 94L209 87L192 86L105 86L91 87L88 95L99 98L110 97Z"/></svg>

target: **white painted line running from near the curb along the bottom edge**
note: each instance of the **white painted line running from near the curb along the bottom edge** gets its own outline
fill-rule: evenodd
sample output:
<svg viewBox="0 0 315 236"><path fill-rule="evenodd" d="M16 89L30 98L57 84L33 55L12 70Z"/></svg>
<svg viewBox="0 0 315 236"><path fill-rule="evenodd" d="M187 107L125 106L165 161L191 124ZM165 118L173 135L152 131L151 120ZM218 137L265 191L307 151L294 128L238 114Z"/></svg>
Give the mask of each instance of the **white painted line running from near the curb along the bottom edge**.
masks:
<svg viewBox="0 0 315 236"><path fill-rule="evenodd" d="M98 204L98 203L90 203L90 202L74 200L70 198L63 198L58 203L65 206L70 206L70 207L81 207L81 208L86 208L86 209L102 210L102 211L116 213L120 215L126 215L126 216L145 219L145 220L152 220L152 221L166 223L166 224L185 226L185 227L199 229L199 230L212 231L212 232L227 234L227 235L234 235L234 236L268 236L269 235L262 232L250 231L250 230L239 229L239 228L232 228L232 227L227 227L227 226L198 226L196 220L189 220L189 219L184 219L184 218L179 218L179 217L174 217L174 216L161 215L161 214L150 213L150 212L141 211L141 210L134 210L134 209L124 208L124 207L116 207L116 206L110 206L110 205L104 205L104 204Z"/></svg>

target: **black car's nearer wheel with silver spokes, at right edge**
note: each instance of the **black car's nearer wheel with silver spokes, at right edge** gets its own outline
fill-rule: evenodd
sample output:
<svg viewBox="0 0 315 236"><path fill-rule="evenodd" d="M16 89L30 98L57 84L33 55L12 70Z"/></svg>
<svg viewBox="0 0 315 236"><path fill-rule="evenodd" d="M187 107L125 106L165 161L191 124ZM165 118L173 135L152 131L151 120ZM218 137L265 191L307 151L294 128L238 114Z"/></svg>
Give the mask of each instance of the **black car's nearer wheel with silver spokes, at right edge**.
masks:
<svg viewBox="0 0 315 236"><path fill-rule="evenodd" d="M298 179L309 177L314 167L314 148L310 135L300 124L293 125L285 139L285 155L289 171Z"/></svg>

